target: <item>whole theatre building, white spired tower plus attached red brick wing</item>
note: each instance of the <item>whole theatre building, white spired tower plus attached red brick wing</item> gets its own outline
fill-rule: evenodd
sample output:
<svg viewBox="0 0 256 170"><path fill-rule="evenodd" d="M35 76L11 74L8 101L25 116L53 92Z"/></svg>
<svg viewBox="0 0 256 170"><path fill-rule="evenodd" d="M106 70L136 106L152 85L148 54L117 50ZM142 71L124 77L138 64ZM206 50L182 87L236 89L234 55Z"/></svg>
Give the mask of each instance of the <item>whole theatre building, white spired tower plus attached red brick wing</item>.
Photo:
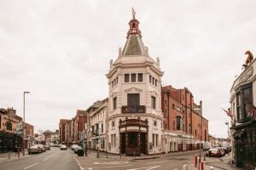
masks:
<svg viewBox="0 0 256 170"><path fill-rule="evenodd" d="M141 156L196 150L208 141L208 121L188 88L161 87L160 59L144 46L139 21L129 22L125 47L110 60L108 152Z"/></svg>

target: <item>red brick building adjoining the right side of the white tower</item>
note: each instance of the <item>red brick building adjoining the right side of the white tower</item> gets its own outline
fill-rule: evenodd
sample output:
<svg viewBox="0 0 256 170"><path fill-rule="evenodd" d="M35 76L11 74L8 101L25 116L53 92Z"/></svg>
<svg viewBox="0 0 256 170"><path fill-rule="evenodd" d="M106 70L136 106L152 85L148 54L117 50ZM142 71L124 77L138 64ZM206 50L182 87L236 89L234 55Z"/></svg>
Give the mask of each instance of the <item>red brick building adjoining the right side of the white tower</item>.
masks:
<svg viewBox="0 0 256 170"><path fill-rule="evenodd" d="M161 98L166 152L198 149L200 140L208 141L208 121L188 88L162 87Z"/></svg>

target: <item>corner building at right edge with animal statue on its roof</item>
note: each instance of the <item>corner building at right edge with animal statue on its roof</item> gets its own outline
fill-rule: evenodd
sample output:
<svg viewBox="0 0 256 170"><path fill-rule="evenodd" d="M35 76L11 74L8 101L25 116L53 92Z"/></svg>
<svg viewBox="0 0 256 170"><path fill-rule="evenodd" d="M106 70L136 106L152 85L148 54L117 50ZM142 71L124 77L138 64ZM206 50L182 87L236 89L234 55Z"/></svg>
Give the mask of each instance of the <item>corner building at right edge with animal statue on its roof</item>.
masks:
<svg viewBox="0 0 256 170"><path fill-rule="evenodd" d="M254 169L256 166L255 59L244 66L246 68L236 78L230 90L232 156L236 167Z"/></svg>

